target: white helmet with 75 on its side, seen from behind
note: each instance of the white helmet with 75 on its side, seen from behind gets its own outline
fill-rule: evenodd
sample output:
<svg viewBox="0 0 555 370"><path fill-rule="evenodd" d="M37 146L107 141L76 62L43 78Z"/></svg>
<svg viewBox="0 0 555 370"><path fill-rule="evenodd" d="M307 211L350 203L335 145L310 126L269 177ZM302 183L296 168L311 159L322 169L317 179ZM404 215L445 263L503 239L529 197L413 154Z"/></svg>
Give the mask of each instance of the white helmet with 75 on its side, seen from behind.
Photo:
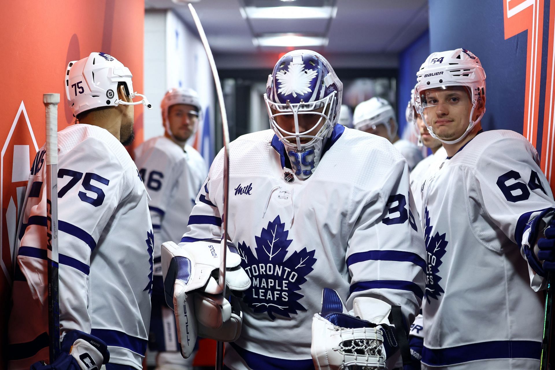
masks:
<svg viewBox="0 0 555 370"><path fill-rule="evenodd" d="M99 107L117 107L119 104L152 106L147 98L133 91L133 75L114 57L105 53L90 53L79 61L69 62L65 72L65 96L73 117ZM138 102L126 102L118 98L118 83L122 82L130 98L142 97Z"/></svg>

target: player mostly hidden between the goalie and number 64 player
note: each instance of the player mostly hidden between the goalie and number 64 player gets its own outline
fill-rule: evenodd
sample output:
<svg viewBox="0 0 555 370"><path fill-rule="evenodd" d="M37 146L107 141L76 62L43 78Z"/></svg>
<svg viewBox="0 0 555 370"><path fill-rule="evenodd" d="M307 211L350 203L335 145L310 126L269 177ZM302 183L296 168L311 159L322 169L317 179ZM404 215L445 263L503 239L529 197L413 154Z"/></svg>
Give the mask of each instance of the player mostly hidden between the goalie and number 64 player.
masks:
<svg viewBox="0 0 555 370"><path fill-rule="evenodd" d="M418 162L410 173L411 191L415 198L418 216L420 217L420 208L422 207L422 182L428 176L428 173L433 173L439 169L441 163L447 158L447 152L445 148L443 148L441 141L430 135L426 124L422 121L422 117L420 114L416 113L414 92L414 89L412 89L411 99L408 101L406 110L407 124L412 124L414 126L418 137L418 146L430 148L432 151L432 154Z"/></svg>

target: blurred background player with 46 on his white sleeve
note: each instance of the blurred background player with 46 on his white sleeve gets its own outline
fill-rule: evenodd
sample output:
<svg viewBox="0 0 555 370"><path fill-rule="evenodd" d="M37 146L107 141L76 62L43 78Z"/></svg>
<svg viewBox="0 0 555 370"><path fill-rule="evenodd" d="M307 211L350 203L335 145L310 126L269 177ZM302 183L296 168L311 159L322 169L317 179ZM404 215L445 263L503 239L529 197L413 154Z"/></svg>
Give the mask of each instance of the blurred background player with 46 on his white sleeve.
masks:
<svg viewBox="0 0 555 370"><path fill-rule="evenodd" d="M184 359L179 352L174 314L164 300L160 244L181 240L208 168L200 154L186 144L198 126L198 94L192 89L170 89L161 108L164 136L149 139L135 149L135 164L151 198L149 209L154 227L149 348L158 351L157 369L186 370L193 368L194 356Z"/></svg>

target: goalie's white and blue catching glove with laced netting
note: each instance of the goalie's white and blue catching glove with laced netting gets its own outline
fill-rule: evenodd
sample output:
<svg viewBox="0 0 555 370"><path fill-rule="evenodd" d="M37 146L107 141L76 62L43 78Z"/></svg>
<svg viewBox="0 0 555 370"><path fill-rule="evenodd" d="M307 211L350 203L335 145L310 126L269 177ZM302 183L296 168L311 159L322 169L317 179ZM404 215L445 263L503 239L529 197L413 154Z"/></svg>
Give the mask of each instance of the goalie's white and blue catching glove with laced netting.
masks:
<svg viewBox="0 0 555 370"><path fill-rule="evenodd" d="M351 315L337 292L324 288L322 312L312 318L310 353L316 368L385 369L386 353L391 355L398 349L395 329L388 319L390 313L391 306L384 301L357 297ZM397 353L393 357L397 358Z"/></svg>

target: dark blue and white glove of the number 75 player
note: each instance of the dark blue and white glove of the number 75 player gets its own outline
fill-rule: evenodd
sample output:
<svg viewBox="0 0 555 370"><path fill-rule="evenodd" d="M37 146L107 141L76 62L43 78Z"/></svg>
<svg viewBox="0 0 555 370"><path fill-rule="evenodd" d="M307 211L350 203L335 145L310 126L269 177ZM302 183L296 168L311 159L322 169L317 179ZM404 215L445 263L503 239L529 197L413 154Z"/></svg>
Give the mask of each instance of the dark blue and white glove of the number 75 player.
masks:
<svg viewBox="0 0 555 370"><path fill-rule="evenodd" d="M78 330L65 334L60 355L52 364L39 361L31 370L99 370L110 361L106 343L90 334Z"/></svg>

